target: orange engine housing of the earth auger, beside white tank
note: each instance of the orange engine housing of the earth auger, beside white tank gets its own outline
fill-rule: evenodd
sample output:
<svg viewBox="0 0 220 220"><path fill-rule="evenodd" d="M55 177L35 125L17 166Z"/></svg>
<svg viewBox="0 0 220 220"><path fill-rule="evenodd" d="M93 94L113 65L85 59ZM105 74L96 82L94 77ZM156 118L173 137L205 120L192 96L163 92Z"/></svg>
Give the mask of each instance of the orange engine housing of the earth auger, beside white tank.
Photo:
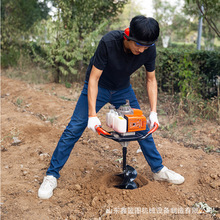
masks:
<svg viewBox="0 0 220 220"><path fill-rule="evenodd" d="M134 114L125 115L127 120L127 132L146 130L147 119L140 109L133 109Z"/></svg>

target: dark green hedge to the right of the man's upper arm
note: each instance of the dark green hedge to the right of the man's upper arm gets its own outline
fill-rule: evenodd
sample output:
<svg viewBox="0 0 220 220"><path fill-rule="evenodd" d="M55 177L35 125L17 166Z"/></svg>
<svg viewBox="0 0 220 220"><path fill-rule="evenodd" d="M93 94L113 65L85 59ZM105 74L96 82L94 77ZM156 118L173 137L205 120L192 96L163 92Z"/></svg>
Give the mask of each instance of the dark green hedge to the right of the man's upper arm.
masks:
<svg viewBox="0 0 220 220"><path fill-rule="evenodd" d="M219 86L220 52L159 49L156 73L159 91L214 97Z"/></svg>

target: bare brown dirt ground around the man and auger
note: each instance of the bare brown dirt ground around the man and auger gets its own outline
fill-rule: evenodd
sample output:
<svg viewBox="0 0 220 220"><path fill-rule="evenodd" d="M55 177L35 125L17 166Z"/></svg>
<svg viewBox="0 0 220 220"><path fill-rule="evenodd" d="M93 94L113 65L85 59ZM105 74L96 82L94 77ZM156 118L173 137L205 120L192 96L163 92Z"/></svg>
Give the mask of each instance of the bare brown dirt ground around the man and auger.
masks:
<svg viewBox="0 0 220 220"><path fill-rule="evenodd" d="M114 174L121 171L121 147L86 129L61 171L53 197L39 199L38 188L81 88L78 84L70 89L52 83L32 85L2 77L2 219L219 218L219 214L198 214L193 208L196 202L205 202L216 210L220 207L219 153L185 147L182 142L164 138L161 130L154 133L154 139L163 163L182 174L184 184L154 181L142 153L137 153L137 142L131 142L127 160L138 172L140 187L114 188ZM148 115L147 107L142 107ZM99 113L103 124L107 108ZM219 148L217 124L201 121L196 126L188 127L188 131L195 130L194 140Z"/></svg>

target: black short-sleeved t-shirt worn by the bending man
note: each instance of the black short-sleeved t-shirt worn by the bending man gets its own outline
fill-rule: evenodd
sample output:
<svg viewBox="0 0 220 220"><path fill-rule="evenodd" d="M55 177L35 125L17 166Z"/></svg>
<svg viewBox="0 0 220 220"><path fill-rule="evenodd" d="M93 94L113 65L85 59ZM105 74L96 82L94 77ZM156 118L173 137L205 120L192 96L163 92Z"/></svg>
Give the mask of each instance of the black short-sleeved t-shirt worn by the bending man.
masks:
<svg viewBox="0 0 220 220"><path fill-rule="evenodd" d="M129 87L130 75L142 65L149 72L155 70L155 46L149 47L139 55L134 55L124 51L123 39L123 31L111 31L102 37L94 56L90 60L86 72L86 81L89 81L93 65L97 69L103 70L99 79L99 86L109 90Z"/></svg>

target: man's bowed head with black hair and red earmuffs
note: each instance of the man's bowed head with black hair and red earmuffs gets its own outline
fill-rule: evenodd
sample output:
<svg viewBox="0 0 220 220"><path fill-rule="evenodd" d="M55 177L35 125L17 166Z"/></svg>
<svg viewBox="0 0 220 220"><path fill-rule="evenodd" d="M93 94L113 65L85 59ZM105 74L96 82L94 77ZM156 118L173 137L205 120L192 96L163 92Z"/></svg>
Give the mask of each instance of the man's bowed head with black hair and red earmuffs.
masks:
<svg viewBox="0 0 220 220"><path fill-rule="evenodd" d="M155 19L143 15L135 16L130 22L130 28L124 33L125 47L134 55L139 55L154 45L159 32L159 24Z"/></svg>

